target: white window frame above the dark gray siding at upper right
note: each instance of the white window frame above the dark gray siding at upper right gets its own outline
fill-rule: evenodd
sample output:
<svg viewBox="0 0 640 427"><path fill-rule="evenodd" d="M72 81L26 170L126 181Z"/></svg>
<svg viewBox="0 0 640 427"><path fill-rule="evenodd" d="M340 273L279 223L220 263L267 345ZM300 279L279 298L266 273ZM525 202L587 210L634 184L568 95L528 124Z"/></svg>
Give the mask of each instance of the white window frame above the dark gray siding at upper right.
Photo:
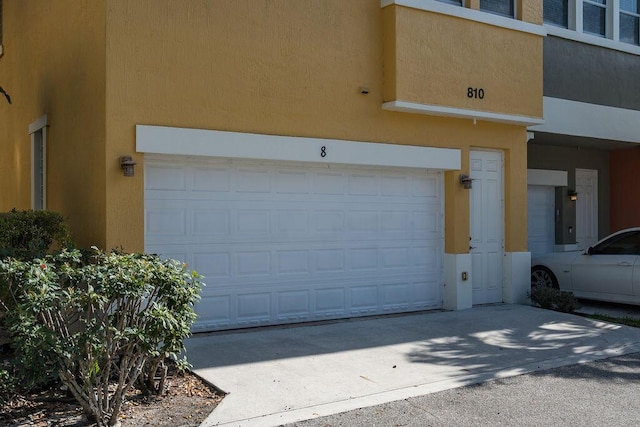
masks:
<svg viewBox="0 0 640 427"><path fill-rule="evenodd" d="M547 30L547 33L552 36L574 40L580 43L592 44L595 46L640 56L639 45L620 41L620 0L607 0L607 28L605 37L584 32L583 10L585 3L593 4L594 2L590 0L568 0L568 28L562 28L557 25L545 23L544 26Z"/></svg>

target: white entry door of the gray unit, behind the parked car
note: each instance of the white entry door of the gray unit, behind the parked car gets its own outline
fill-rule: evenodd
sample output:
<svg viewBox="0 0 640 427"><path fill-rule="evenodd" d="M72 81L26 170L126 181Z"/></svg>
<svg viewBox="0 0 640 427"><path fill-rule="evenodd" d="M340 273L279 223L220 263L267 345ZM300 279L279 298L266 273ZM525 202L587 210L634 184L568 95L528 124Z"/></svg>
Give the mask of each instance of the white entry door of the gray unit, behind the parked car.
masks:
<svg viewBox="0 0 640 427"><path fill-rule="evenodd" d="M586 249L598 241L598 171L576 169L576 244Z"/></svg>

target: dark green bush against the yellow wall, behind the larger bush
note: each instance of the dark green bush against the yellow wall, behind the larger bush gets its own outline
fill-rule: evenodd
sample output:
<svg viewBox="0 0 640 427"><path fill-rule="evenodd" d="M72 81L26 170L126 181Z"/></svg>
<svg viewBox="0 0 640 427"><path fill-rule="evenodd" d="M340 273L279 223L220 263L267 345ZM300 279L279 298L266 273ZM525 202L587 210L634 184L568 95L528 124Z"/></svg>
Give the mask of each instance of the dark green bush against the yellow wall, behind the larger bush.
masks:
<svg viewBox="0 0 640 427"><path fill-rule="evenodd" d="M0 258L42 258L52 245L72 245L69 228L59 213L15 209L0 213Z"/></svg>

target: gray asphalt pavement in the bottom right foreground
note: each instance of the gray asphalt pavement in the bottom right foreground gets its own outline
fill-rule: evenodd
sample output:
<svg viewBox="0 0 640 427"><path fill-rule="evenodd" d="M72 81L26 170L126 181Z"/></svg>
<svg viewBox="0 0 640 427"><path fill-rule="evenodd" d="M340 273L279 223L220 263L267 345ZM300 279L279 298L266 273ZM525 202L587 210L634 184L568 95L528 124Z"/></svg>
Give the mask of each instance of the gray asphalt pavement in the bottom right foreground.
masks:
<svg viewBox="0 0 640 427"><path fill-rule="evenodd" d="M640 353L632 353L287 426L638 426L639 392Z"/></svg>

